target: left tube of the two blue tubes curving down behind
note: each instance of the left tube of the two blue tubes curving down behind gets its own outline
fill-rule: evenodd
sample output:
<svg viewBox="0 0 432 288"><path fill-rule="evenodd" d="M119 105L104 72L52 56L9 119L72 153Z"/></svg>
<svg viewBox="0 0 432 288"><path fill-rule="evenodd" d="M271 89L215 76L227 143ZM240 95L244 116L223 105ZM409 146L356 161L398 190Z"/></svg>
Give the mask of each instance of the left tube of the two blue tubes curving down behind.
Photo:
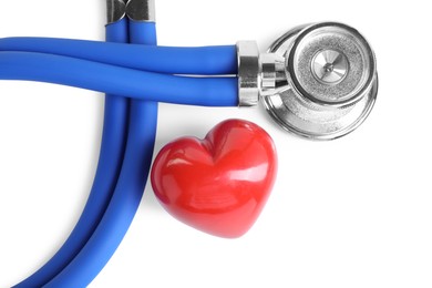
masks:
<svg viewBox="0 0 432 288"><path fill-rule="evenodd" d="M127 42L127 20L106 27L106 40ZM38 271L16 287L42 287L61 272L97 227L114 192L122 167L127 122L127 99L106 95L99 165L84 210L68 240Z"/></svg>

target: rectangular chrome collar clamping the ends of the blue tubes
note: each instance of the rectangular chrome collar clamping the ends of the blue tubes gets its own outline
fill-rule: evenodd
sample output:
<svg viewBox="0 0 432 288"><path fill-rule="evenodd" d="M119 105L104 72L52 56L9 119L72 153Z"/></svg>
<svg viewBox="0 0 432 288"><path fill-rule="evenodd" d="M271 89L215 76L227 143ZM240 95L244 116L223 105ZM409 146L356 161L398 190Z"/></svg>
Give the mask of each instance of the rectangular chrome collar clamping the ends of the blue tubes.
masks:
<svg viewBox="0 0 432 288"><path fill-rule="evenodd" d="M256 106L259 102L259 51L255 41L237 42L238 105Z"/></svg>

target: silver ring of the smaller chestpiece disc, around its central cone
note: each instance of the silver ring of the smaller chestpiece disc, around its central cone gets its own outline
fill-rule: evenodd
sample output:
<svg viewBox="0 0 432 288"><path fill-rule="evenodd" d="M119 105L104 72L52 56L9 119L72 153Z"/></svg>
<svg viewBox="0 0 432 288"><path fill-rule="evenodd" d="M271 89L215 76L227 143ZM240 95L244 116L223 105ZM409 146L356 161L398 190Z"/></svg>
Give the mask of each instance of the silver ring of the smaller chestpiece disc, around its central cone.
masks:
<svg viewBox="0 0 432 288"><path fill-rule="evenodd" d="M348 62L342 81L326 83L317 80L311 66L317 54L337 51ZM311 24L300 31L287 51L288 82L312 102L346 105L362 97L372 85L376 71L373 52L366 39L354 29L335 22Z"/></svg>

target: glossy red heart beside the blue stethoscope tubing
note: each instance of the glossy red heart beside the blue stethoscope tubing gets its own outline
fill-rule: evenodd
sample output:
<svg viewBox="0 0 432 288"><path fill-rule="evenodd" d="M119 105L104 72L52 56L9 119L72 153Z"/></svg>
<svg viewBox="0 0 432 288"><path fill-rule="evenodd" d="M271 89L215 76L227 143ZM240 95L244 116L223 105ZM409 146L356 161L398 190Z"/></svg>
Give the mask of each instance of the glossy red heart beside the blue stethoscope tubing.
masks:
<svg viewBox="0 0 432 288"><path fill-rule="evenodd" d="M259 216L276 172L271 137L254 123L228 120L204 140L167 144L153 164L152 185L164 208L181 222L234 238Z"/></svg>

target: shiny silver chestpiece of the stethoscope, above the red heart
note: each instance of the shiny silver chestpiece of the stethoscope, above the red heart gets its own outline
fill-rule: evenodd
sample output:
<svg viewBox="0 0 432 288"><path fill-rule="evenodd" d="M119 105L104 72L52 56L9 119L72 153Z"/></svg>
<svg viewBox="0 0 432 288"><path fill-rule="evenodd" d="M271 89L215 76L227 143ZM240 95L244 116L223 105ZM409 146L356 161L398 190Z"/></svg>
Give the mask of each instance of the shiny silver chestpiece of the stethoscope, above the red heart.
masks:
<svg viewBox="0 0 432 288"><path fill-rule="evenodd" d="M373 51L346 24L295 28L260 54L259 62L259 96L267 112L304 137L332 140L352 132L377 97Z"/></svg>

